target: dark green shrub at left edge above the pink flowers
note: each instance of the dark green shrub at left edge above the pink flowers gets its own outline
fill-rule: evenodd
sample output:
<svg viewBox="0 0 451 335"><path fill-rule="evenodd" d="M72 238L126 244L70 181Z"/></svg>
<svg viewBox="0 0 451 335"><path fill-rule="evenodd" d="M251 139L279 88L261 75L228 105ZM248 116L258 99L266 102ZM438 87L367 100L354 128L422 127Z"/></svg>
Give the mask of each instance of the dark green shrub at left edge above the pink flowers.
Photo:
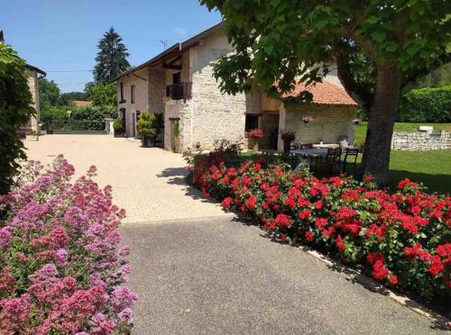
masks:
<svg viewBox="0 0 451 335"><path fill-rule="evenodd" d="M17 159L26 158L17 132L34 113L25 62L11 47L0 43L0 194L13 184Z"/></svg>

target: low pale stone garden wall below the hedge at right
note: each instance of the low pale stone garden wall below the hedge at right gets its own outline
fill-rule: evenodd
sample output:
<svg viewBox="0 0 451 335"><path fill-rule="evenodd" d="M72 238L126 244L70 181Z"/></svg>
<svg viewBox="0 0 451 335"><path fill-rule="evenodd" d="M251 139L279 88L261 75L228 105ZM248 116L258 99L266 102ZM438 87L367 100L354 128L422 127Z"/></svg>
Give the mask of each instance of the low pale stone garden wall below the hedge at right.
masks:
<svg viewBox="0 0 451 335"><path fill-rule="evenodd" d="M449 131L394 131L391 149L400 151L426 151L451 149Z"/></svg>

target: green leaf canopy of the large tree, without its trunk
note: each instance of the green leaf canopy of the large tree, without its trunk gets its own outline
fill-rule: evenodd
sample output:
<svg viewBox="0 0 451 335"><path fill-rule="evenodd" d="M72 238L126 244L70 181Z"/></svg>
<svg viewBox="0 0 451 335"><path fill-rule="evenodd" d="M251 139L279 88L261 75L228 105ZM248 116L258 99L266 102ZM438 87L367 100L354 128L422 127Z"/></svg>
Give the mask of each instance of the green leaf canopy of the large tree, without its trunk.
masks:
<svg viewBox="0 0 451 335"><path fill-rule="evenodd" d="M409 77L446 56L450 42L449 4L444 1L410 1L408 5L400 0L391 5L379 1L365 5L345 1L299 5L295 0L200 2L226 18L226 33L235 46L235 55L221 59L215 69L227 93L249 88L249 78L272 94L278 93L274 86L278 79L280 93L284 93L296 77L319 81L324 77L322 64L337 55L350 55L344 59L345 66L354 69L354 78L360 76L360 83L352 88L371 94L373 68L392 62Z"/></svg>

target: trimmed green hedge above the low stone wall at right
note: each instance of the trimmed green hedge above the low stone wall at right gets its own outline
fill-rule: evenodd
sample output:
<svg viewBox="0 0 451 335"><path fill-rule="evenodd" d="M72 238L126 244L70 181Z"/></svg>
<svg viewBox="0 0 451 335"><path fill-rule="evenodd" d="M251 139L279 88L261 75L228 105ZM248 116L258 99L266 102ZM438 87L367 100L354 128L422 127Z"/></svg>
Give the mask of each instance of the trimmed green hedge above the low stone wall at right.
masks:
<svg viewBox="0 0 451 335"><path fill-rule="evenodd" d="M400 104L400 122L451 122L451 85L412 89Z"/></svg>

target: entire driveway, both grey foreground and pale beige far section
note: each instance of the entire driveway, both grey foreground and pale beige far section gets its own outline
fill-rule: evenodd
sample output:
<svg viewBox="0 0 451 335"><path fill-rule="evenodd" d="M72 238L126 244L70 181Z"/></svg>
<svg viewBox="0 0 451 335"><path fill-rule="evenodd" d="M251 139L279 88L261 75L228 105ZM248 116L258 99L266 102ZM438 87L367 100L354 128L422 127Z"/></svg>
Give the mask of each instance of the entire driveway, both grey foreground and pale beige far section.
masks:
<svg viewBox="0 0 451 335"><path fill-rule="evenodd" d="M101 135L43 136L26 146L43 162L63 153L78 174L97 165L98 183L112 185L127 210L121 231L140 295L133 333L437 332L317 258L233 222L185 185L180 155Z"/></svg>

